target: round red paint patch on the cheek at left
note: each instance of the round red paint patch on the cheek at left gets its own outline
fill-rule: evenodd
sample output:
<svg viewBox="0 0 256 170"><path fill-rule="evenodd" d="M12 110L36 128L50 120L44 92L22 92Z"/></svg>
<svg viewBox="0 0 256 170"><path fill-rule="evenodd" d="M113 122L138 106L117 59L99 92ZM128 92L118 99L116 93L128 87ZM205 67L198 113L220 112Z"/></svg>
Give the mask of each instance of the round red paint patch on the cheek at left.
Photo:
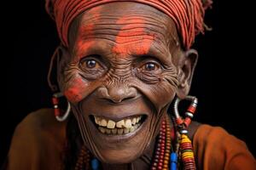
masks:
<svg viewBox="0 0 256 170"><path fill-rule="evenodd" d="M67 82L67 86L64 89L64 95L70 102L78 103L84 99L84 96L86 95L84 92L86 92L87 87L88 83L84 82L82 77L74 77Z"/></svg>

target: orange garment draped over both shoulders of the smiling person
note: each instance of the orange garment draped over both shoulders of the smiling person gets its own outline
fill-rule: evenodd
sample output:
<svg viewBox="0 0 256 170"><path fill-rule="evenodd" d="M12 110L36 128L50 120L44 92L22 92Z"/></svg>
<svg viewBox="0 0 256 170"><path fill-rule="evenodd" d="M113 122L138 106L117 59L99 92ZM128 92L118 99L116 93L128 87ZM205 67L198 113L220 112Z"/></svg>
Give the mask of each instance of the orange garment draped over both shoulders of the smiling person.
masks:
<svg viewBox="0 0 256 170"><path fill-rule="evenodd" d="M52 110L33 112L16 127L8 170L59 170L67 122L56 122ZM193 139L198 169L256 170L244 142L221 127L201 125Z"/></svg>

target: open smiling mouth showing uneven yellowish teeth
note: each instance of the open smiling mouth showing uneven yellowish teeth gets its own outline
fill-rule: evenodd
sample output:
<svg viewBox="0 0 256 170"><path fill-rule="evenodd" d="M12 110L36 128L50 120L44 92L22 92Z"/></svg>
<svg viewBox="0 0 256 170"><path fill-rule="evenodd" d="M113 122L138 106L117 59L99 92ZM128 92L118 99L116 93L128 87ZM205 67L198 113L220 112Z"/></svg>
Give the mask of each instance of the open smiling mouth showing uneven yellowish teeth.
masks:
<svg viewBox="0 0 256 170"><path fill-rule="evenodd" d="M118 122L100 116L90 116L100 133L108 135L123 135L134 133L143 124L145 115L126 117Z"/></svg>

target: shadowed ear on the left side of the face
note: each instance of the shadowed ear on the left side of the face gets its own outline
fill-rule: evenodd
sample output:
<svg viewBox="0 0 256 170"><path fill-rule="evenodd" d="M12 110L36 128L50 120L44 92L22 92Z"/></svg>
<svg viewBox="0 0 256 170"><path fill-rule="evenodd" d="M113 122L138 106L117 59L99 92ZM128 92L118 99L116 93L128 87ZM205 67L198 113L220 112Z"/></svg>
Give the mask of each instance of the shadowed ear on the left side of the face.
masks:
<svg viewBox="0 0 256 170"><path fill-rule="evenodd" d="M57 81L61 92L63 91L64 77L65 77L65 68L67 67L67 63L71 59L71 54L68 52L67 48L60 46L59 48L59 59L57 65Z"/></svg>

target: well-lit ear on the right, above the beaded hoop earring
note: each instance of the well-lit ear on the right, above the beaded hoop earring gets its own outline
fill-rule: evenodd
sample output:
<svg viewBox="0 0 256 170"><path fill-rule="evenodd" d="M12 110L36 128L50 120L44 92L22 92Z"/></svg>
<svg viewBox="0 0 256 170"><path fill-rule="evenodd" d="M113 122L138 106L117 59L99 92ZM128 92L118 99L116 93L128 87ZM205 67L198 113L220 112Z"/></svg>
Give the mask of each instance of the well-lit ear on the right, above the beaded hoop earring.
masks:
<svg viewBox="0 0 256 170"><path fill-rule="evenodd" d="M195 49L189 49L178 62L178 85L177 85L177 97L184 99L189 94L189 89L192 81L192 77L197 63L198 54Z"/></svg>

